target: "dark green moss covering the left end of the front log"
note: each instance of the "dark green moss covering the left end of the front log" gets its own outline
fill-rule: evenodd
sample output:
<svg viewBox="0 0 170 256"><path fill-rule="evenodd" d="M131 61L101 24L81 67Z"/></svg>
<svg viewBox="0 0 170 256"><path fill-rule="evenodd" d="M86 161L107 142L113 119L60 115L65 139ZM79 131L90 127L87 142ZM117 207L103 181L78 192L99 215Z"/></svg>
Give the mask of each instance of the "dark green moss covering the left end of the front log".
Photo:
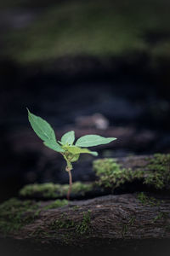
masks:
<svg viewBox="0 0 170 256"><path fill-rule="evenodd" d="M39 207L36 201L20 201L12 198L0 205L0 230L10 234L30 224L36 218L34 212Z"/></svg>

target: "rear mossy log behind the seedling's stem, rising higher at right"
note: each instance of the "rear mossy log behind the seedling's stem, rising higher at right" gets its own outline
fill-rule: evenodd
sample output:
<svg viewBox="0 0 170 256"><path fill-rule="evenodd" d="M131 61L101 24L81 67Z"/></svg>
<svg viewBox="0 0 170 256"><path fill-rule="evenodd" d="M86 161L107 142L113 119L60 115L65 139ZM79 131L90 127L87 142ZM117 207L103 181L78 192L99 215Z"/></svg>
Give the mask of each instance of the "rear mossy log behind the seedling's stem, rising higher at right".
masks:
<svg viewBox="0 0 170 256"><path fill-rule="evenodd" d="M170 154L129 156L118 159L94 160L92 172L96 180L72 185L71 199L87 199L99 195L137 191L170 190ZM66 198L68 184L29 184L20 190L22 198Z"/></svg>

